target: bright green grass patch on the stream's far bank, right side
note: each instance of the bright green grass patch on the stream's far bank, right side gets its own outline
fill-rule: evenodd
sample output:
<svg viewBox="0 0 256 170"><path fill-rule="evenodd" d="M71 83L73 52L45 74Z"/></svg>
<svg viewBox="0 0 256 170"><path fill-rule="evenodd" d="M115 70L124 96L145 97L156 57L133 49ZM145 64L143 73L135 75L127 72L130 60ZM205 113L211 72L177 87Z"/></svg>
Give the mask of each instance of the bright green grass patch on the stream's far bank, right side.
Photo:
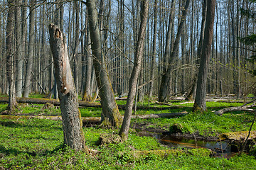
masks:
<svg viewBox="0 0 256 170"><path fill-rule="evenodd" d="M225 113L222 116L215 115L212 112L188 113L188 115L178 118L136 119L132 120L132 123L146 124L151 128L161 128L163 130L169 130L171 125L179 124L184 133L198 132L200 135L208 137L223 132L249 130L253 116L252 113ZM252 130L256 130L256 125L253 125Z"/></svg>

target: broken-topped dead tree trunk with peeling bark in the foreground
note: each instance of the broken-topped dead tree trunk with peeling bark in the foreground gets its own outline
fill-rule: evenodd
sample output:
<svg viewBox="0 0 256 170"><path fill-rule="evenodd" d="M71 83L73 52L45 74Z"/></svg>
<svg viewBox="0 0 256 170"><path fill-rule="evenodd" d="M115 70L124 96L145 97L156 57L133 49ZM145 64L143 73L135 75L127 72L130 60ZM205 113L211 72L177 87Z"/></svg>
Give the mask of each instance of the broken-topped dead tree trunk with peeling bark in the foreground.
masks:
<svg viewBox="0 0 256 170"><path fill-rule="evenodd" d="M54 24L50 24L49 33L55 67L55 79L60 98L64 143L72 149L88 152L85 146L81 114L78 109L78 96L75 92L65 38L60 29Z"/></svg>

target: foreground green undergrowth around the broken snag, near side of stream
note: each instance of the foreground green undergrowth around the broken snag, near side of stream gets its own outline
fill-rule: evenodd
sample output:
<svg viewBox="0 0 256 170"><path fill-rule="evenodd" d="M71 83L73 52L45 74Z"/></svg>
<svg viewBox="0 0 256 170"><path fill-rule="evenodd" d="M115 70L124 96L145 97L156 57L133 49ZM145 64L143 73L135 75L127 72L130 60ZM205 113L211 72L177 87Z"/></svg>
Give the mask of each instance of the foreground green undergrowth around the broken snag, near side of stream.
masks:
<svg viewBox="0 0 256 170"><path fill-rule="evenodd" d="M55 120L0 120L0 169L254 169L255 157L213 158L207 149L176 149L164 157L156 153L137 157L133 152L168 149L152 137L138 137L117 145L97 146L101 133L118 130L84 128L86 144L95 154L63 146L62 123ZM124 154L120 154L124 153Z"/></svg>

